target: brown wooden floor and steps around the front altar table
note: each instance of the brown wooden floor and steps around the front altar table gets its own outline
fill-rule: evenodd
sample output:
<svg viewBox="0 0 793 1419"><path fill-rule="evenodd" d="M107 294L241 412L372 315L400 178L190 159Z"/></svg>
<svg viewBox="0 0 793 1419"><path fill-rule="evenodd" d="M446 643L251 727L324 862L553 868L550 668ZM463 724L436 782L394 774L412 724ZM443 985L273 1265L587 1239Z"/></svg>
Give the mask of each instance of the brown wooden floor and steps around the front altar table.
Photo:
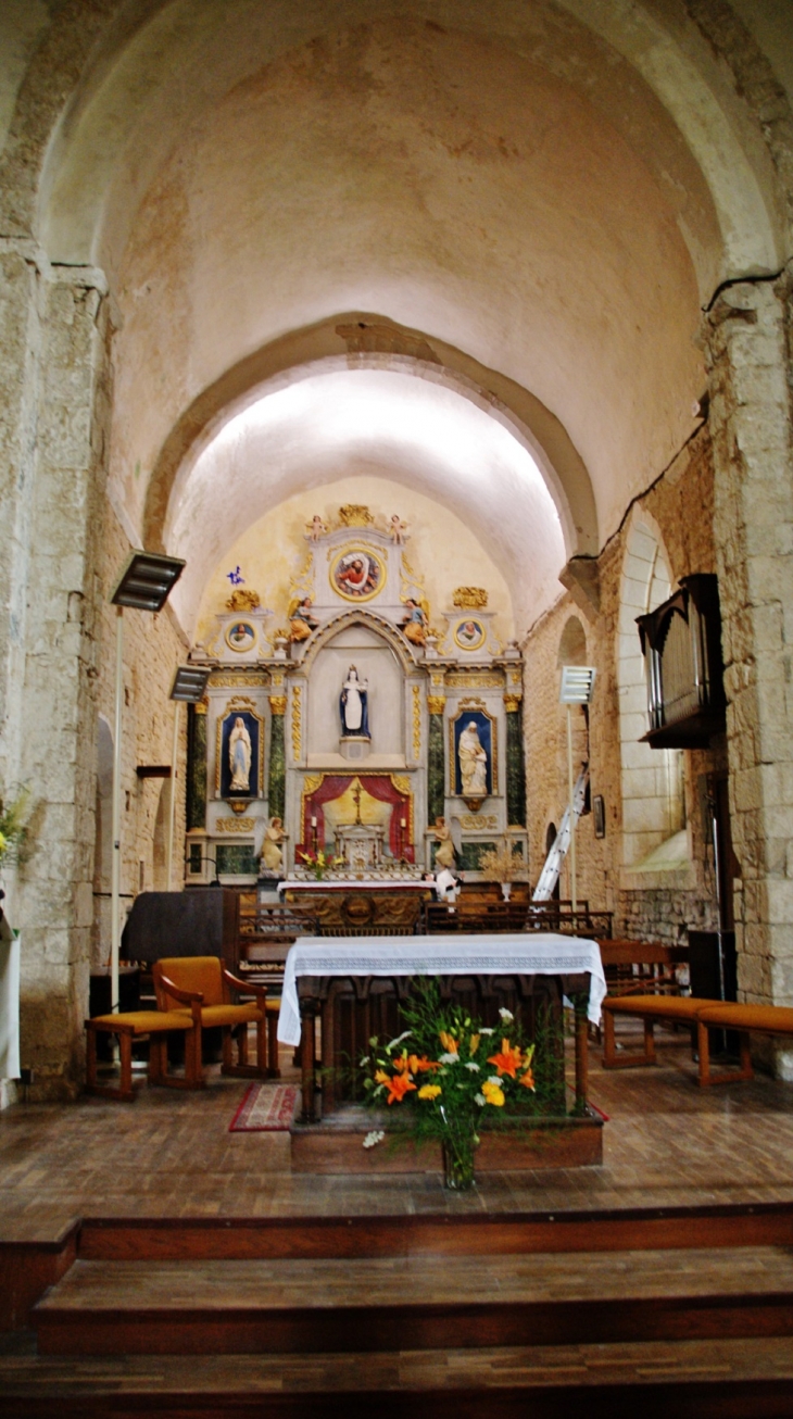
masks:
<svg viewBox="0 0 793 1419"><path fill-rule="evenodd" d="M702 1091L662 1032L660 1057L593 1050L601 1168L468 1195L292 1176L287 1135L228 1132L220 1076L7 1111L0 1242L65 1274L38 1345L0 1347L0 1415L790 1416L793 1086Z"/></svg>

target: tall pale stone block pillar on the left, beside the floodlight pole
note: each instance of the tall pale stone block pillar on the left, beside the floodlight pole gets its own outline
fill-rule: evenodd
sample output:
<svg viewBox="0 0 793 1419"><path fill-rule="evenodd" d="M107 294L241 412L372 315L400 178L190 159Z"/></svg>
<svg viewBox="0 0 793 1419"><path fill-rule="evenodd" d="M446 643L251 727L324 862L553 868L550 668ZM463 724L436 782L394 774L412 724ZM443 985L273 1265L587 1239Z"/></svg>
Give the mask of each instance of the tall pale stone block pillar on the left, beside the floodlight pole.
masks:
<svg viewBox="0 0 793 1419"><path fill-rule="evenodd" d="M109 325L101 272L37 267L28 288L26 390L11 410L21 487L10 640L21 675L4 775L27 782L35 805L33 857L14 900L24 934L23 1064L35 1071L33 1097L71 1097L82 1078L94 912Z"/></svg>

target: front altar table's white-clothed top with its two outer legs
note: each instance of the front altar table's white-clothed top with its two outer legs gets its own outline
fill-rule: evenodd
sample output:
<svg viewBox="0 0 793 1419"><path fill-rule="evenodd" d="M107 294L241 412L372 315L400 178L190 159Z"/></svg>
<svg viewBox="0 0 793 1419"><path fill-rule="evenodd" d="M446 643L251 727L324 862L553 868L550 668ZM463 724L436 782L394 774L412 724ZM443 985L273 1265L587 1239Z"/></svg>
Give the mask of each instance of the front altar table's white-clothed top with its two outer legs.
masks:
<svg viewBox="0 0 793 1419"><path fill-rule="evenodd" d="M314 1117L315 1023L328 992L328 978L394 979L400 976L516 978L550 976L567 995L586 995L587 1009L576 1012L576 1104L587 1093L587 1020L600 1022L606 978L597 942L555 934L475 937L383 937L348 939L308 938L287 956L278 1019L278 1039L302 1051L304 1118ZM301 995L299 983L302 982ZM323 1013L323 1027L331 1026ZM323 1050L325 1053L325 1050Z"/></svg>

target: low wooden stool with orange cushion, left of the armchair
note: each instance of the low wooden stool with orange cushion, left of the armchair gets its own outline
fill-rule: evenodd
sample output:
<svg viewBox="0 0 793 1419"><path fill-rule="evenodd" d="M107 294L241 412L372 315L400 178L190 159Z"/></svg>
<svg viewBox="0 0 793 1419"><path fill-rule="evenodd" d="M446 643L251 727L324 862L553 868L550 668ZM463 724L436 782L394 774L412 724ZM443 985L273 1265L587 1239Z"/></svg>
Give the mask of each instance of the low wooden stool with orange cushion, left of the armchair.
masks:
<svg viewBox="0 0 793 1419"><path fill-rule="evenodd" d="M85 1022L85 1087L89 1094L129 1103L132 1088L132 1040L149 1036L149 1084L169 1088L203 1088L201 1074L201 1015L197 1006L186 1010L128 1010L123 1015L96 1015ZM184 1076L167 1073L167 1036L172 1030L184 1034ZM96 1034L116 1034L121 1051L121 1080L99 1084L96 1080Z"/></svg>

